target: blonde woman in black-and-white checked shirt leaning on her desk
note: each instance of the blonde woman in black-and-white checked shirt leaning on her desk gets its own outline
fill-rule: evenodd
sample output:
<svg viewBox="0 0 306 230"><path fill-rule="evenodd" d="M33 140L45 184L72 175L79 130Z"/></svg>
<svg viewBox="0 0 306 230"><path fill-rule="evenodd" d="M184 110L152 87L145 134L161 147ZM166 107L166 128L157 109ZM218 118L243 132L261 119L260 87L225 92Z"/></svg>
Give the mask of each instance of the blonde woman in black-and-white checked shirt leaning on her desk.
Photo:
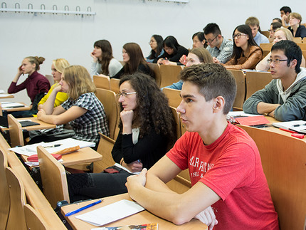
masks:
<svg viewBox="0 0 306 230"><path fill-rule="evenodd" d="M69 122L75 133L73 138L97 143L99 132L109 135L104 108L95 96L95 85L88 70L83 66L69 66L65 68L58 87L51 92L43 109L37 113L38 120L55 125ZM54 108L54 101L58 92L68 93L69 98L63 104ZM63 139L60 136L45 135L33 137L29 143L51 142Z"/></svg>

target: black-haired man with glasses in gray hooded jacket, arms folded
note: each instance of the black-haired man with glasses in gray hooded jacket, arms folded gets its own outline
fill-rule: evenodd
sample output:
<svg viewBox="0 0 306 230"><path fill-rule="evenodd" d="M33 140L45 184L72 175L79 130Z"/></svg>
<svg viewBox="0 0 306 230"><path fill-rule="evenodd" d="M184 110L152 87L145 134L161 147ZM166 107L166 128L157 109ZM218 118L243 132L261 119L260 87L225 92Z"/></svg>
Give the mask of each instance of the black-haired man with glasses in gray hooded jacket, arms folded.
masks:
<svg viewBox="0 0 306 230"><path fill-rule="evenodd" d="M243 104L245 113L267 114L280 121L306 120L306 69L293 41L279 41L268 59L273 80Z"/></svg>

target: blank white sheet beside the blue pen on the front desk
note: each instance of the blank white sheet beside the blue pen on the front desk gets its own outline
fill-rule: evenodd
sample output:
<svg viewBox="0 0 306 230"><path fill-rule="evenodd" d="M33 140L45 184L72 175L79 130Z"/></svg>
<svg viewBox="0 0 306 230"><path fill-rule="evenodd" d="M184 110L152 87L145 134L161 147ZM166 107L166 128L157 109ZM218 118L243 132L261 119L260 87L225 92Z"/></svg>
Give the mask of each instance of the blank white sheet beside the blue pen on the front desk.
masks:
<svg viewBox="0 0 306 230"><path fill-rule="evenodd" d="M109 204L100 209L95 209L94 211L89 211L88 213L75 216L75 218L81 219L95 226L102 226L143 210L144 208L139 204L130 202L127 199L122 199L119 202Z"/></svg>

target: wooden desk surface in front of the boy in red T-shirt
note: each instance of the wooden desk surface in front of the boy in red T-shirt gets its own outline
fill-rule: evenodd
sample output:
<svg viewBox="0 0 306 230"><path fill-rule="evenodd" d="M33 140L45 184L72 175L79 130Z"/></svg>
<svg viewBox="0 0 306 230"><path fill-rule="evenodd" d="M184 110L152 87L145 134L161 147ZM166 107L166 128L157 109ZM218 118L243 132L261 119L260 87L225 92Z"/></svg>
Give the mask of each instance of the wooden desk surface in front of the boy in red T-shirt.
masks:
<svg viewBox="0 0 306 230"><path fill-rule="evenodd" d="M65 216L65 218L68 220L68 222L73 226L74 229L93 229L96 226L93 226L91 224L88 224L85 221L81 221L80 219L76 219L75 216L78 216L80 214L85 214L88 211L93 211L95 209L98 209L100 207L104 207L105 205L112 204L115 202L118 202L122 199L127 199L132 201L130 199L129 194L120 194L117 196L112 196L112 197L105 197L103 198L103 202L100 204L95 205L94 207L90 207L89 209L85 209L83 211L80 211L78 214L74 214L72 216L65 216L66 213L69 211L73 211L75 209L78 209L80 207L84 207L87 204L93 203L96 200L93 201L88 201L88 202L83 202L80 204L70 204L67 206L62 207L61 211L62 214ZM81 205L81 206L80 206ZM159 218L158 216L155 216L154 214L150 213L147 210L141 211L137 214L134 214L132 216L127 216L124 219L120 219L118 221L114 221L110 224L105 224L104 227L106 226L125 226L125 225L130 225L130 224L150 224L150 223L158 223L159 228L158 229L207 229L207 226L198 219L192 219L186 224L182 225L175 225L172 224L169 221L166 221L164 219Z"/></svg>

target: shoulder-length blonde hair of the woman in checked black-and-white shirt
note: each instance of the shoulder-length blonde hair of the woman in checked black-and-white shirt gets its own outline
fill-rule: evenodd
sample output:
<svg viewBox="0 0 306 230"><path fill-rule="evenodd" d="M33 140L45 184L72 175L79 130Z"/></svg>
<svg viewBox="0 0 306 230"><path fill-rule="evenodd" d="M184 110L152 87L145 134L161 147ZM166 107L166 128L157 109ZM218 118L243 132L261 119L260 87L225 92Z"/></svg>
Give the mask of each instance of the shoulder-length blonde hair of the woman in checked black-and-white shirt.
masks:
<svg viewBox="0 0 306 230"><path fill-rule="evenodd" d="M84 93L95 92L95 85L83 66L69 66L63 72L63 80L69 85L69 98L76 100Z"/></svg>

